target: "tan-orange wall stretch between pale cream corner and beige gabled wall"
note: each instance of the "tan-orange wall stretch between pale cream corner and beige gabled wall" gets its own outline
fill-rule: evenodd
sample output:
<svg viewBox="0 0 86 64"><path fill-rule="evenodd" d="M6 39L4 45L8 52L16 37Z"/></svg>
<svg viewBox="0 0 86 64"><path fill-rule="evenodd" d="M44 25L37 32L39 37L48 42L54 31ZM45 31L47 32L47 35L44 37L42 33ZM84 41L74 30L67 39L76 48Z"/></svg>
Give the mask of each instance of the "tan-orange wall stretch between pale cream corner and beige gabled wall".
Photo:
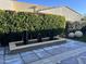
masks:
<svg viewBox="0 0 86 64"><path fill-rule="evenodd" d="M36 7L36 11L39 9L44 9L46 7L42 5L37 5L37 4L32 4L32 3L25 3L25 2L13 2L13 8L15 11L23 11L23 12L34 12L34 9L32 7Z"/></svg>

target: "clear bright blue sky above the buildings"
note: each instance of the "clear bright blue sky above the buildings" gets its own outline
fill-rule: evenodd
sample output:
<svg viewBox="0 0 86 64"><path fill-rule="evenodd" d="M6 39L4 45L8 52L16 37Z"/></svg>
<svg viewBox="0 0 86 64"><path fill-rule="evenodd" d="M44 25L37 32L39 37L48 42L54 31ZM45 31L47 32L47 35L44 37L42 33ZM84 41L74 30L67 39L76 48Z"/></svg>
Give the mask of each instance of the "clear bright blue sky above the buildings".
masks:
<svg viewBox="0 0 86 64"><path fill-rule="evenodd" d="M86 0L17 0L17 1L47 7L66 5L81 14L86 14Z"/></svg>

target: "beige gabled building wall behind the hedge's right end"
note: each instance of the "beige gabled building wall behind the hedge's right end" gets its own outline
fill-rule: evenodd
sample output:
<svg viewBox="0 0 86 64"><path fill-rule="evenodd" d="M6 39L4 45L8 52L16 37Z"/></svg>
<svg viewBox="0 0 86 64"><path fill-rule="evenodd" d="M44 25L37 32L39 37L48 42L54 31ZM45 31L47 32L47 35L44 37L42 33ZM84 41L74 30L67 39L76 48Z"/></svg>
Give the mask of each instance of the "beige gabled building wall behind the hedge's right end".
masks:
<svg viewBox="0 0 86 64"><path fill-rule="evenodd" d="M67 7L47 9L47 10L39 11L39 13L62 15L62 16L65 16L66 21L71 21L71 22L81 21L81 18L83 17L81 14L71 10Z"/></svg>

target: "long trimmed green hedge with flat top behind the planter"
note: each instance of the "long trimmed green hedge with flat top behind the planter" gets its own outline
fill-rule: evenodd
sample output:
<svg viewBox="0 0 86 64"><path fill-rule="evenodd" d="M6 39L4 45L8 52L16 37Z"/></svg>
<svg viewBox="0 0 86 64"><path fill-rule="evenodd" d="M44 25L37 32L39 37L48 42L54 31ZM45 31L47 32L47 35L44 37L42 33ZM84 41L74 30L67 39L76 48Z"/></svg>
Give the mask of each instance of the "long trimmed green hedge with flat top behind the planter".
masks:
<svg viewBox="0 0 86 64"><path fill-rule="evenodd" d="M22 39L24 30L32 35L28 38L36 38L39 33L42 37L49 36L49 33L54 35L62 34L64 28L65 18L60 15L0 10L0 34L8 34L9 36L16 34L20 37L19 40ZM15 38L14 35L12 36L13 38L11 39L16 38L16 36Z"/></svg>

